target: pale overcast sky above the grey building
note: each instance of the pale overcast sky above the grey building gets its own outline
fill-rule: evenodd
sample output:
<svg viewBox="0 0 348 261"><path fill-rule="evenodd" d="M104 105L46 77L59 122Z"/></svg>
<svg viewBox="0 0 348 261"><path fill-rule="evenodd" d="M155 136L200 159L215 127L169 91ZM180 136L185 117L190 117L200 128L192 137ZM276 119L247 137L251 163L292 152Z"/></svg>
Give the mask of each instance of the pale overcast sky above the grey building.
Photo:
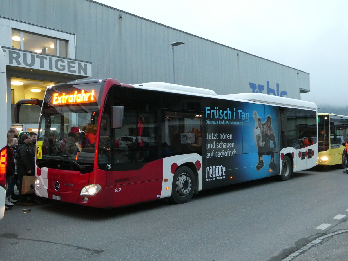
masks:
<svg viewBox="0 0 348 261"><path fill-rule="evenodd" d="M98 2L308 72L302 100L347 104L347 0Z"/></svg>

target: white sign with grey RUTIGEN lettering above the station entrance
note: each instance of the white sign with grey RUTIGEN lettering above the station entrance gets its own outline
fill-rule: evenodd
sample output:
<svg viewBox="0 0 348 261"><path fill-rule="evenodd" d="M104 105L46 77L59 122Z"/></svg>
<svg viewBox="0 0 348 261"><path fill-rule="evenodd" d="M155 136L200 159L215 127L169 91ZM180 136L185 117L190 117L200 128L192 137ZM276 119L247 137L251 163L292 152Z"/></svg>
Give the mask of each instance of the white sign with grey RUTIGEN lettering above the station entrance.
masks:
<svg viewBox="0 0 348 261"><path fill-rule="evenodd" d="M6 65L38 69L84 77L92 76L92 63L23 50L3 48Z"/></svg>

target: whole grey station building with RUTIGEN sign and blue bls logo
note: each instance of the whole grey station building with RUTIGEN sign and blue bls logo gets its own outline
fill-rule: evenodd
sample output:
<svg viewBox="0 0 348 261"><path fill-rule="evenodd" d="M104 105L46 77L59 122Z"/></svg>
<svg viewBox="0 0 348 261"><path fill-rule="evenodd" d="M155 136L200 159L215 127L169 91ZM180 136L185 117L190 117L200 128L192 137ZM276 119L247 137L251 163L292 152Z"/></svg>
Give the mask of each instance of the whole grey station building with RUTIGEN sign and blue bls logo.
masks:
<svg viewBox="0 0 348 261"><path fill-rule="evenodd" d="M310 91L309 73L92 0L0 0L0 35L7 72L1 88L12 114L18 100L42 99L50 85L88 78L296 99ZM39 111L28 106L21 124L12 115L8 127L35 129Z"/></svg>

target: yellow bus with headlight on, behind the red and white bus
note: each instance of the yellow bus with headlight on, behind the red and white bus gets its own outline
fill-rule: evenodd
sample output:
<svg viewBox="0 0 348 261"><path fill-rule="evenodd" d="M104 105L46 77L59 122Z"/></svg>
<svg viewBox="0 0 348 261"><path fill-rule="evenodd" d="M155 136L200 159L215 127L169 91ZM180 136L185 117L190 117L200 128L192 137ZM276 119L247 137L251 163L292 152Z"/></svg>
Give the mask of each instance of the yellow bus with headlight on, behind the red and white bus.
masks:
<svg viewBox="0 0 348 261"><path fill-rule="evenodd" d="M318 151L319 165L338 165L346 167L346 135L348 116L318 113Z"/></svg>

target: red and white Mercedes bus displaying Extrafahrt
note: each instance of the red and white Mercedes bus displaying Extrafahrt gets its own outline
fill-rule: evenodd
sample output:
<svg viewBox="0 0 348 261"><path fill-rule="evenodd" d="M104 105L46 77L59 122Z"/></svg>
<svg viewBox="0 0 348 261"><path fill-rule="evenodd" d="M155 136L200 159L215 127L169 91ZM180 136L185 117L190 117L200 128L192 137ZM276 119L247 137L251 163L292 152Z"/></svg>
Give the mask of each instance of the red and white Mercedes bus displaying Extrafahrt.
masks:
<svg viewBox="0 0 348 261"><path fill-rule="evenodd" d="M186 203L204 189L269 176L288 180L317 164L316 108L163 82L59 84L42 103L35 193L106 208L160 198ZM94 144L64 139L87 125L96 126ZM303 137L313 142L300 148Z"/></svg>

